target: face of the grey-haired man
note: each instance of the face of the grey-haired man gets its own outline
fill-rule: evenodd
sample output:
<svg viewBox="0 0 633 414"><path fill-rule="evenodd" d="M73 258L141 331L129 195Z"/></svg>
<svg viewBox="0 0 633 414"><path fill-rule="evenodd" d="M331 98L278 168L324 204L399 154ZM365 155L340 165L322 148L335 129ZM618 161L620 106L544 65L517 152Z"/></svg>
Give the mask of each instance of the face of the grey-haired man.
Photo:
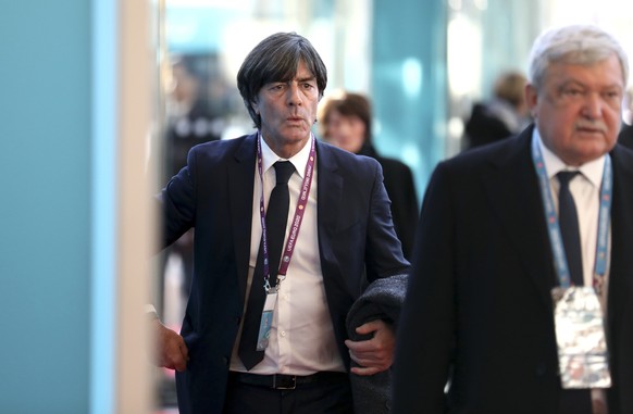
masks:
<svg viewBox="0 0 633 414"><path fill-rule="evenodd" d="M609 152L620 130L624 80L613 54L593 65L554 63L539 91L525 88L543 143L569 165Z"/></svg>

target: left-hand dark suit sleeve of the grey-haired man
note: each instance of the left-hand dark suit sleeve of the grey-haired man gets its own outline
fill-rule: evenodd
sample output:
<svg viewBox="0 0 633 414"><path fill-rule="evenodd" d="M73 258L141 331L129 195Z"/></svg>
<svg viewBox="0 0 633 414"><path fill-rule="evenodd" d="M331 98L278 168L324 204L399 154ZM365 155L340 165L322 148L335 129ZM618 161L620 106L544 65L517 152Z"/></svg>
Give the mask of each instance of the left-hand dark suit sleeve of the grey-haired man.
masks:
<svg viewBox="0 0 633 414"><path fill-rule="evenodd" d="M396 340L394 413L440 414L455 340L455 205L445 164L427 187Z"/></svg>

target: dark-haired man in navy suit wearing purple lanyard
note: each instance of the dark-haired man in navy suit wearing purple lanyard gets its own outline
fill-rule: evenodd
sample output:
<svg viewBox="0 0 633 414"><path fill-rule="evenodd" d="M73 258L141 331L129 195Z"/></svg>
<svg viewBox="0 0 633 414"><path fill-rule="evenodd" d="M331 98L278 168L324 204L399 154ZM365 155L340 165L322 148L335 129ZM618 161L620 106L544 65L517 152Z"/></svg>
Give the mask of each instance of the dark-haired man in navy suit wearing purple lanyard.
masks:
<svg viewBox="0 0 633 414"><path fill-rule="evenodd" d="M392 364L389 323L363 324L357 331L369 339L351 341L345 321L368 281L406 274L409 263L380 164L311 134L326 81L303 37L280 33L262 40L237 75L258 131L195 147L162 191L164 244L196 228L181 335L156 323L161 364L178 371L181 414L352 413L350 357L360 365L351 375ZM266 213L284 171L289 205L277 266L281 253L272 251L280 226ZM262 316L264 284L271 324ZM251 306L258 296L262 304ZM249 321L269 329L252 343ZM256 352L256 341L268 347Z"/></svg>

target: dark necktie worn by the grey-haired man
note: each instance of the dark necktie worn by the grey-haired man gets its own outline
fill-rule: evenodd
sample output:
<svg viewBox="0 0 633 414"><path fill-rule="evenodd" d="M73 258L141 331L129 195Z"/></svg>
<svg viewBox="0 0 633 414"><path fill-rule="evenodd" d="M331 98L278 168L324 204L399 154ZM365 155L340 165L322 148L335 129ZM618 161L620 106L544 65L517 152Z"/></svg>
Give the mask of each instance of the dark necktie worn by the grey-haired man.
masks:
<svg viewBox="0 0 633 414"><path fill-rule="evenodd" d="M580 243L578 214L573 197L569 191L569 181L580 174L578 171L562 171L557 174L560 189L558 191L558 222L564 244L567 265L574 286L583 286L583 259Z"/></svg>

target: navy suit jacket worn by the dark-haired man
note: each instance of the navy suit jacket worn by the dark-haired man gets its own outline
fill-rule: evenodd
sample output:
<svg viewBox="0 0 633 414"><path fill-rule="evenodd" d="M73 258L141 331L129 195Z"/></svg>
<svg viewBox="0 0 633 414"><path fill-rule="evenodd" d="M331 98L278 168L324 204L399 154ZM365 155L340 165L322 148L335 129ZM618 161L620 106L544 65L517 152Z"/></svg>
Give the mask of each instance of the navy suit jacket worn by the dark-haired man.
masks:
<svg viewBox="0 0 633 414"><path fill-rule="evenodd" d="M182 335L187 371L176 374L181 414L221 413L244 308L257 135L195 147L162 192L163 243L196 227L195 273ZM340 354L345 318L367 281L407 273L375 160L316 142L318 236L323 283ZM301 236L297 242L301 242ZM364 279L367 268L367 280Z"/></svg>

